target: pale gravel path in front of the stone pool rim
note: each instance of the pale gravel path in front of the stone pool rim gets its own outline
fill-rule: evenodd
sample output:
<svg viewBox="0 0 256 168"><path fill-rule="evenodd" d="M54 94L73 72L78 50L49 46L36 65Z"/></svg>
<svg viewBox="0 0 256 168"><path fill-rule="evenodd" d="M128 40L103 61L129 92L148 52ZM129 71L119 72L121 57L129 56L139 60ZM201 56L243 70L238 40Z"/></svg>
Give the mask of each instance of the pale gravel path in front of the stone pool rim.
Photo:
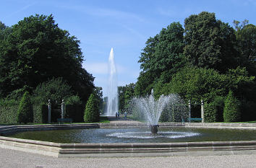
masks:
<svg viewBox="0 0 256 168"><path fill-rule="evenodd" d="M55 158L0 148L2 168L54 167L256 167L256 155L170 156L128 158Z"/></svg>

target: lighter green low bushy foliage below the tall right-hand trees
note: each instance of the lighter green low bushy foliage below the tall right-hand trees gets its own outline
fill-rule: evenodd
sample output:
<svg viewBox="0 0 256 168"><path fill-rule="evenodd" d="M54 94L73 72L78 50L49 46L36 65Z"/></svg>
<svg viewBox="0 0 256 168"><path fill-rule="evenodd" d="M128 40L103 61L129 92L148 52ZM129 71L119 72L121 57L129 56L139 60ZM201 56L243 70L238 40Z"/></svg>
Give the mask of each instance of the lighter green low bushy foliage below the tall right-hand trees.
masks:
<svg viewBox="0 0 256 168"><path fill-rule="evenodd" d="M254 76L249 76L245 68L229 70L229 74L220 74L214 69L186 67L174 74L167 84L155 84L154 95L179 94L186 100L213 102L216 96L226 97L229 89L239 91L251 83Z"/></svg>

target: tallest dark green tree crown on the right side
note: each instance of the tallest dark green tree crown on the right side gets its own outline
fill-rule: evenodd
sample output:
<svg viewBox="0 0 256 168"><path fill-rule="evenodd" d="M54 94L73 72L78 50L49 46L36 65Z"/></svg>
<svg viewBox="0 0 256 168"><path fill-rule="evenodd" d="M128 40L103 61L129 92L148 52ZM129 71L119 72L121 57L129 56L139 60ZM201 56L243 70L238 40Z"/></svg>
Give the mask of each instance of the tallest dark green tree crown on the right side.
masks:
<svg viewBox="0 0 256 168"><path fill-rule="evenodd" d="M236 37L232 27L209 12L192 14L185 19L184 27L184 54L193 66L214 68L222 73L236 68Z"/></svg>

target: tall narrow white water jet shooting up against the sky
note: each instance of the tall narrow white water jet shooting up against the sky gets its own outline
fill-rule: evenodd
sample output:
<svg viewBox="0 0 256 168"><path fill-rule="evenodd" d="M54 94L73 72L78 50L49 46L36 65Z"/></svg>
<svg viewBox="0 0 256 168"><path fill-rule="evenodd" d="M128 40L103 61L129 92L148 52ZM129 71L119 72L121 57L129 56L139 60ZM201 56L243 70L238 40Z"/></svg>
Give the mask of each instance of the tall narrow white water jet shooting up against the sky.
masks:
<svg viewBox="0 0 256 168"><path fill-rule="evenodd" d="M111 48L108 58L108 108L107 116L114 116L118 111L117 77L114 62L114 51Z"/></svg>

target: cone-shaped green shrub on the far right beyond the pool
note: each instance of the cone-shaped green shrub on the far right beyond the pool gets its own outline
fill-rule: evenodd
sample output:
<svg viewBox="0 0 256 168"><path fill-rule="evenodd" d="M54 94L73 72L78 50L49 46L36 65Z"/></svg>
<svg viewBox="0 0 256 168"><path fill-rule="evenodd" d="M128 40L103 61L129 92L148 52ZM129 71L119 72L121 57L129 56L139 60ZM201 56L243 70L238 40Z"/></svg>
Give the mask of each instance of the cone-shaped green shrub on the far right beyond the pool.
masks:
<svg viewBox="0 0 256 168"><path fill-rule="evenodd" d="M229 91L225 100L223 119L224 122L236 122L241 119L241 112L239 109L240 102L234 97L233 92Z"/></svg>

